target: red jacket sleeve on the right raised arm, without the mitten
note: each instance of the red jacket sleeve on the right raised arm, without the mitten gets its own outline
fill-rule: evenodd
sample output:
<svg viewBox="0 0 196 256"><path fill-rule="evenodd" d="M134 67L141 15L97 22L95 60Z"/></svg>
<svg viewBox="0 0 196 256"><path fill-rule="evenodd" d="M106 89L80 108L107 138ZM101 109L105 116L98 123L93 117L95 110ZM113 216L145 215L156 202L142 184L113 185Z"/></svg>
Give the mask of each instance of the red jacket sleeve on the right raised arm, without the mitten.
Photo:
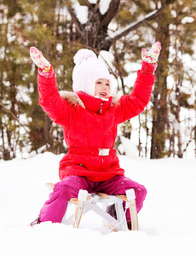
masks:
<svg viewBox="0 0 196 256"><path fill-rule="evenodd" d="M120 98L117 107L118 124L131 119L146 108L151 98L154 79L154 75L141 73L141 70L137 72L134 90L129 96L124 95Z"/></svg>

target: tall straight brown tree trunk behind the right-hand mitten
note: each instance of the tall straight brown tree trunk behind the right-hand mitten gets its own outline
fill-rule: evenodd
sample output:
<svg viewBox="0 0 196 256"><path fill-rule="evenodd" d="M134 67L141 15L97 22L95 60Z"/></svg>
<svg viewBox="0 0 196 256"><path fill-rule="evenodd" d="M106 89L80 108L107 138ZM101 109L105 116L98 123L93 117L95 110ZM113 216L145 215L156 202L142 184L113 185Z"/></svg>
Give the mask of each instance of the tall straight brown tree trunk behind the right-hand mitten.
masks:
<svg viewBox="0 0 196 256"><path fill-rule="evenodd" d="M158 18L157 40L162 44L159 65L156 71L156 82L153 91L153 131L151 159L164 157L165 126L168 124L167 111L167 76L170 46L170 8L164 9Z"/></svg>

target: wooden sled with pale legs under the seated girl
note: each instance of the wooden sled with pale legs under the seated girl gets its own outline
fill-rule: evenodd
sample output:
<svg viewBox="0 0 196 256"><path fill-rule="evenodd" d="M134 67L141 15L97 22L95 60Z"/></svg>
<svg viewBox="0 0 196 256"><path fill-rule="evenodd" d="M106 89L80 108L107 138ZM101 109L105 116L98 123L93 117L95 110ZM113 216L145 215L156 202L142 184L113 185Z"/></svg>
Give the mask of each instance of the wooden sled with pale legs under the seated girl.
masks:
<svg viewBox="0 0 196 256"><path fill-rule="evenodd" d="M54 189L53 183L46 183L46 185L49 189ZM82 216L92 210L98 214L103 219L103 223L113 231L129 230L124 213L124 201L130 208L131 230L139 230L134 189L127 190L126 195L107 195L104 193L89 195L87 190L80 189L78 198L72 198L69 200L69 205L75 205L75 212L73 212L69 217L65 214L61 223L68 225L72 224L73 227L78 229ZM99 203L103 203L107 206L114 204L117 212L117 219L113 218L102 207L100 207Z"/></svg>

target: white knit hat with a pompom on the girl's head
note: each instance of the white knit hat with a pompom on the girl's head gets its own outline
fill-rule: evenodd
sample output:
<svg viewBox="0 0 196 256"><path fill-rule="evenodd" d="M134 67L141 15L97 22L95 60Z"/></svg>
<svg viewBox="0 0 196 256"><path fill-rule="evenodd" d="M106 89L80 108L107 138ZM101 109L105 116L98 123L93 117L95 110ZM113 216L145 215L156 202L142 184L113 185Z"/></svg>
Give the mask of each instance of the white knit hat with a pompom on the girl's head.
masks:
<svg viewBox="0 0 196 256"><path fill-rule="evenodd" d="M97 59L91 49L79 49L73 57L76 66L72 72L72 90L82 90L90 96L95 95L95 81L97 79L108 79L112 85L112 76L107 66Z"/></svg>

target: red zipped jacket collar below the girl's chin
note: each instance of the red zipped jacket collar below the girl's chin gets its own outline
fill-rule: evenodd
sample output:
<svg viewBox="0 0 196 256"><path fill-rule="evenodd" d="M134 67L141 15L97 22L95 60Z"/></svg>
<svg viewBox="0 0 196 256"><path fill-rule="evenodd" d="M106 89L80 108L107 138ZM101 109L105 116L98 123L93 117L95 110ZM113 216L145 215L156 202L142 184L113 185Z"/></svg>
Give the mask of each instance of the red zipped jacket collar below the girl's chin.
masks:
<svg viewBox="0 0 196 256"><path fill-rule="evenodd" d="M111 106L112 96L108 98L108 101L101 100L101 98L95 98L94 96L89 96L83 91L78 91L77 95L84 103L84 107L89 111L93 111L95 113L102 113L107 108Z"/></svg>

